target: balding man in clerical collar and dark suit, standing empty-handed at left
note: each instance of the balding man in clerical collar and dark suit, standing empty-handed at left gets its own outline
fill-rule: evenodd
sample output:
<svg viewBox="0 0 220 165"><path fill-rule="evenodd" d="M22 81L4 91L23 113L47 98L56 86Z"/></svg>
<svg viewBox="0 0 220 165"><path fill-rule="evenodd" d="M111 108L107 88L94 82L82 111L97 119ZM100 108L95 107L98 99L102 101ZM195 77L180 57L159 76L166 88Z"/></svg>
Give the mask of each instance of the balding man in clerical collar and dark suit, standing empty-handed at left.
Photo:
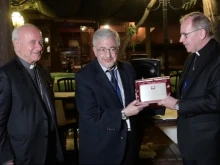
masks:
<svg viewBox="0 0 220 165"><path fill-rule="evenodd" d="M40 30L15 28L16 57L0 68L0 164L58 164L63 161L50 74L36 64L43 51Z"/></svg>

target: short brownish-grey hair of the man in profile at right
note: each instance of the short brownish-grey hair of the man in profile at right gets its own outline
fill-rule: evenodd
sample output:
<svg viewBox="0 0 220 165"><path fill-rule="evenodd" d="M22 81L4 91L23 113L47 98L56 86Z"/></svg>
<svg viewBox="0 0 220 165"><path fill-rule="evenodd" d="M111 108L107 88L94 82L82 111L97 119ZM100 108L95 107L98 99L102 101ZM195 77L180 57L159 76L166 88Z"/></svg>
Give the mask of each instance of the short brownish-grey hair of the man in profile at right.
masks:
<svg viewBox="0 0 220 165"><path fill-rule="evenodd" d="M192 18L192 27L195 29L205 29L209 37L213 36L212 33L212 23L206 17L203 13L201 12L192 12L189 14L186 14L180 19L180 24L182 24L187 18L191 17Z"/></svg>

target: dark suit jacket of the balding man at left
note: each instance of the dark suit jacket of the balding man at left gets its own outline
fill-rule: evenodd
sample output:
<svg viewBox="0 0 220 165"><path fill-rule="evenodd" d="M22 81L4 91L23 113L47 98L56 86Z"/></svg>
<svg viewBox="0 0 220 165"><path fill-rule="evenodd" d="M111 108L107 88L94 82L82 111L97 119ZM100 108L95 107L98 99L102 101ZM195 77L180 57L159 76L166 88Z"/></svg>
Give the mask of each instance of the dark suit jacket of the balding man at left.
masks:
<svg viewBox="0 0 220 165"><path fill-rule="evenodd" d="M49 92L50 75L39 68L43 92ZM59 143L54 104L46 108L30 74L15 57L0 68L0 164L14 160L15 164L44 164L49 140L53 139L56 155L63 160ZM54 137L50 137L50 126Z"/></svg>

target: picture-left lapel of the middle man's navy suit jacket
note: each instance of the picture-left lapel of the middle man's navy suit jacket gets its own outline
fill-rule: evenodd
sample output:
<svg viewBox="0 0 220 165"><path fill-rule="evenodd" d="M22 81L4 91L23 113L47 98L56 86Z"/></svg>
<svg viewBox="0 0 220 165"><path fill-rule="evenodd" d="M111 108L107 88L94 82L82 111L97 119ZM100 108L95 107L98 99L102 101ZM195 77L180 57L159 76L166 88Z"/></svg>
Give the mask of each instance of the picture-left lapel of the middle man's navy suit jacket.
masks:
<svg viewBox="0 0 220 165"><path fill-rule="evenodd" d="M113 89L111 82L109 81L106 73L102 70L100 64L98 63L97 59L94 59L94 65L95 65L95 71L96 71L96 81L98 82L98 84L103 88L103 90L107 91L107 93L109 93L110 98L113 99L114 103L118 103L118 105L120 105L121 107L123 107L121 105L121 102L115 92L115 90ZM124 85L124 84L123 84Z"/></svg>

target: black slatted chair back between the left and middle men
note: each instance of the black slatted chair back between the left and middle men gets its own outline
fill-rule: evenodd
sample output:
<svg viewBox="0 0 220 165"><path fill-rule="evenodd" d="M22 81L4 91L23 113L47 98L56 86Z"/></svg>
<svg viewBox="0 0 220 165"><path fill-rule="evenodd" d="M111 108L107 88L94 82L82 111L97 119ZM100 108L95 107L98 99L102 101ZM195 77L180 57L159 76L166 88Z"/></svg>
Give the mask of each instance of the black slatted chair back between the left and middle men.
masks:
<svg viewBox="0 0 220 165"><path fill-rule="evenodd" d="M60 78L57 80L59 92L74 92L75 79L72 77Z"/></svg>

